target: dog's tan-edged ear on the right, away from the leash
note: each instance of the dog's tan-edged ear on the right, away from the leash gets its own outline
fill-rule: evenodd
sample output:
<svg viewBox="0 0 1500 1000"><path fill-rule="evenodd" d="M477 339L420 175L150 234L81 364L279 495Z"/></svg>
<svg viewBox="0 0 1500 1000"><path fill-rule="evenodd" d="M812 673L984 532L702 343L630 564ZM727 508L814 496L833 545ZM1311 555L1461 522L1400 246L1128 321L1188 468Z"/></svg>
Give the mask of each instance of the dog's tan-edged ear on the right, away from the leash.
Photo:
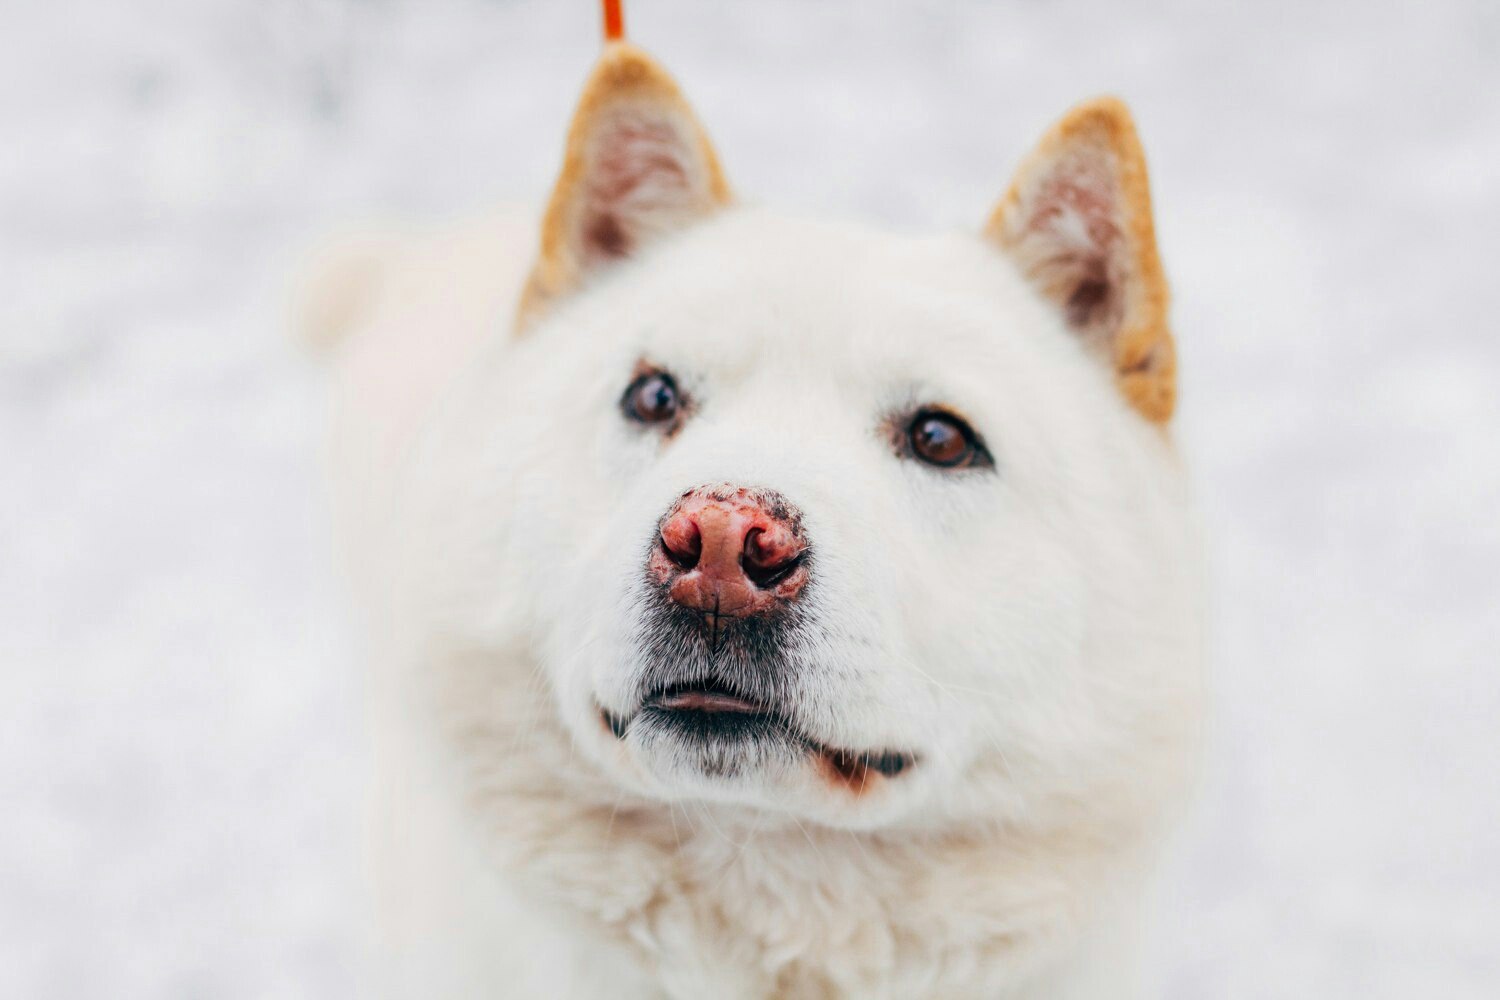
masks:
<svg viewBox="0 0 1500 1000"><path fill-rule="evenodd" d="M1178 369L1167 279L1124 102L1100 97L1064 115L1022 163L986 235L1108 358L1131 406L1166 423Z"/></svg>

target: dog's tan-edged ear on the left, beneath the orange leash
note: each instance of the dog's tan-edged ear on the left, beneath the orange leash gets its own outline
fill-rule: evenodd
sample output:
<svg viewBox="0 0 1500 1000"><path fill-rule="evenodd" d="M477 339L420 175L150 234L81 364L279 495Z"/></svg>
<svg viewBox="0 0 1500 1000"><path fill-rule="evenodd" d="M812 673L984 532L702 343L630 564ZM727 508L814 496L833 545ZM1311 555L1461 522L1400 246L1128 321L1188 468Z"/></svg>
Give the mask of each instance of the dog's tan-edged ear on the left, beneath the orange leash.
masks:
<svg viewBox="0 0 1500 1000"><path fill-rule="evenodd" d="M518 328L592 273L729 202L708 135L662 66L610 42L568 127Z"/></svg>

